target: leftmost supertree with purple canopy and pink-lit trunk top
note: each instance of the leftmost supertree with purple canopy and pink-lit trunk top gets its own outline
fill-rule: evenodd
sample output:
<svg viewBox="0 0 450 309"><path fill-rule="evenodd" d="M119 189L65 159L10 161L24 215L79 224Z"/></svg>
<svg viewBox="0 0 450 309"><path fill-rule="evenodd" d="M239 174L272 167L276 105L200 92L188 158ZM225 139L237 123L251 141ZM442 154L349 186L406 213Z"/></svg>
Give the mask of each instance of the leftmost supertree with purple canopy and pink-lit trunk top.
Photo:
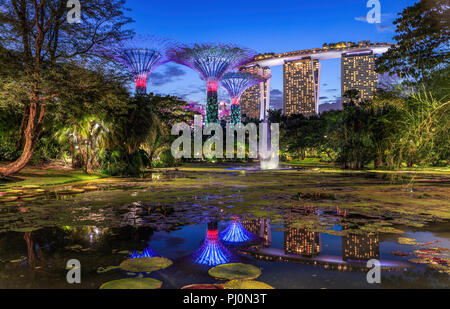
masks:
<svg viewBox="0 0 450 309"><path fill-rule="evenodd" d="M96 49L99 54L126 66L134 76L136 95L144 95L147 93L148 77L157 67L169 62L167 50L172 47L173 41L142 35Z"/></svg>

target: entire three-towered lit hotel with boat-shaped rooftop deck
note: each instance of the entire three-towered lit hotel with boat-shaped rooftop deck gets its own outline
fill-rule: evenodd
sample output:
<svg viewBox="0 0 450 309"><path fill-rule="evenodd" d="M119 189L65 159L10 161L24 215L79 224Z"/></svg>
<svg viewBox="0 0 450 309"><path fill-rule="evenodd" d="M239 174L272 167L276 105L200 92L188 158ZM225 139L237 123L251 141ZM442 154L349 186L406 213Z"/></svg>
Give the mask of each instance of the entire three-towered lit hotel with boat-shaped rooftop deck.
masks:
<svg viewBox="0 0 450 309"><path fill-rule="evenodd" d="M259 55L242 71L270 76L271 67L282 65L283 113L309 116L319 113L320 60L340 58L342 96L354 89L359 92L359 101L364 101L373 97L378 86L375 57L392 46L368 41L325 44L318 49ZM243 117L264 119L270 108L270 91L270 79L247 90L241 98Z"/></svg>

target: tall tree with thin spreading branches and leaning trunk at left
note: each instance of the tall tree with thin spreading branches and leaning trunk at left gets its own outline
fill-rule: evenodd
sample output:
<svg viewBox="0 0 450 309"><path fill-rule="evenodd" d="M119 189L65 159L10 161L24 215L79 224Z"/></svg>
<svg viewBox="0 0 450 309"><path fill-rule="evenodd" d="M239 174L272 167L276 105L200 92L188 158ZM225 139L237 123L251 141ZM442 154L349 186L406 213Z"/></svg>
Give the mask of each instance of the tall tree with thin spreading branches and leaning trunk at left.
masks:
<svg viewBox="0 0 450 309"><path fill-rule="evenodd" d="M55 69L70 61L89 62L98 44L131 36L123 30L124 0L81 0L81 23L67 23L65 0L0 0L0 42L22 55L20 69L7 89L23 92L23 151L18 160L0 168L0 175L20 171L30 161L42 132L47 109L58 101ZM1 71L1 70L0 70ZM4 89L4 88L3 88Z"/></svg>

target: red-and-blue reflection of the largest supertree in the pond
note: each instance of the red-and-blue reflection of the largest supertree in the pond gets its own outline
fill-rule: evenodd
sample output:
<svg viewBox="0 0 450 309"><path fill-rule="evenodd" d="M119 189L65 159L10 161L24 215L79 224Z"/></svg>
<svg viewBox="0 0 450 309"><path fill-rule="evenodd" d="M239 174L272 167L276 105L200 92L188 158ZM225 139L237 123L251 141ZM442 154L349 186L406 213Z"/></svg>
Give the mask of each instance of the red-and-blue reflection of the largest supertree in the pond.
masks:
<svg viewBox="0 0 450 309"><path fill-rule="evenodd" d="M194 253L194 261L197 264L217 266L230 263L231 253L219 240L217 222L208 223L206 239L202 247Z"/></svg>

